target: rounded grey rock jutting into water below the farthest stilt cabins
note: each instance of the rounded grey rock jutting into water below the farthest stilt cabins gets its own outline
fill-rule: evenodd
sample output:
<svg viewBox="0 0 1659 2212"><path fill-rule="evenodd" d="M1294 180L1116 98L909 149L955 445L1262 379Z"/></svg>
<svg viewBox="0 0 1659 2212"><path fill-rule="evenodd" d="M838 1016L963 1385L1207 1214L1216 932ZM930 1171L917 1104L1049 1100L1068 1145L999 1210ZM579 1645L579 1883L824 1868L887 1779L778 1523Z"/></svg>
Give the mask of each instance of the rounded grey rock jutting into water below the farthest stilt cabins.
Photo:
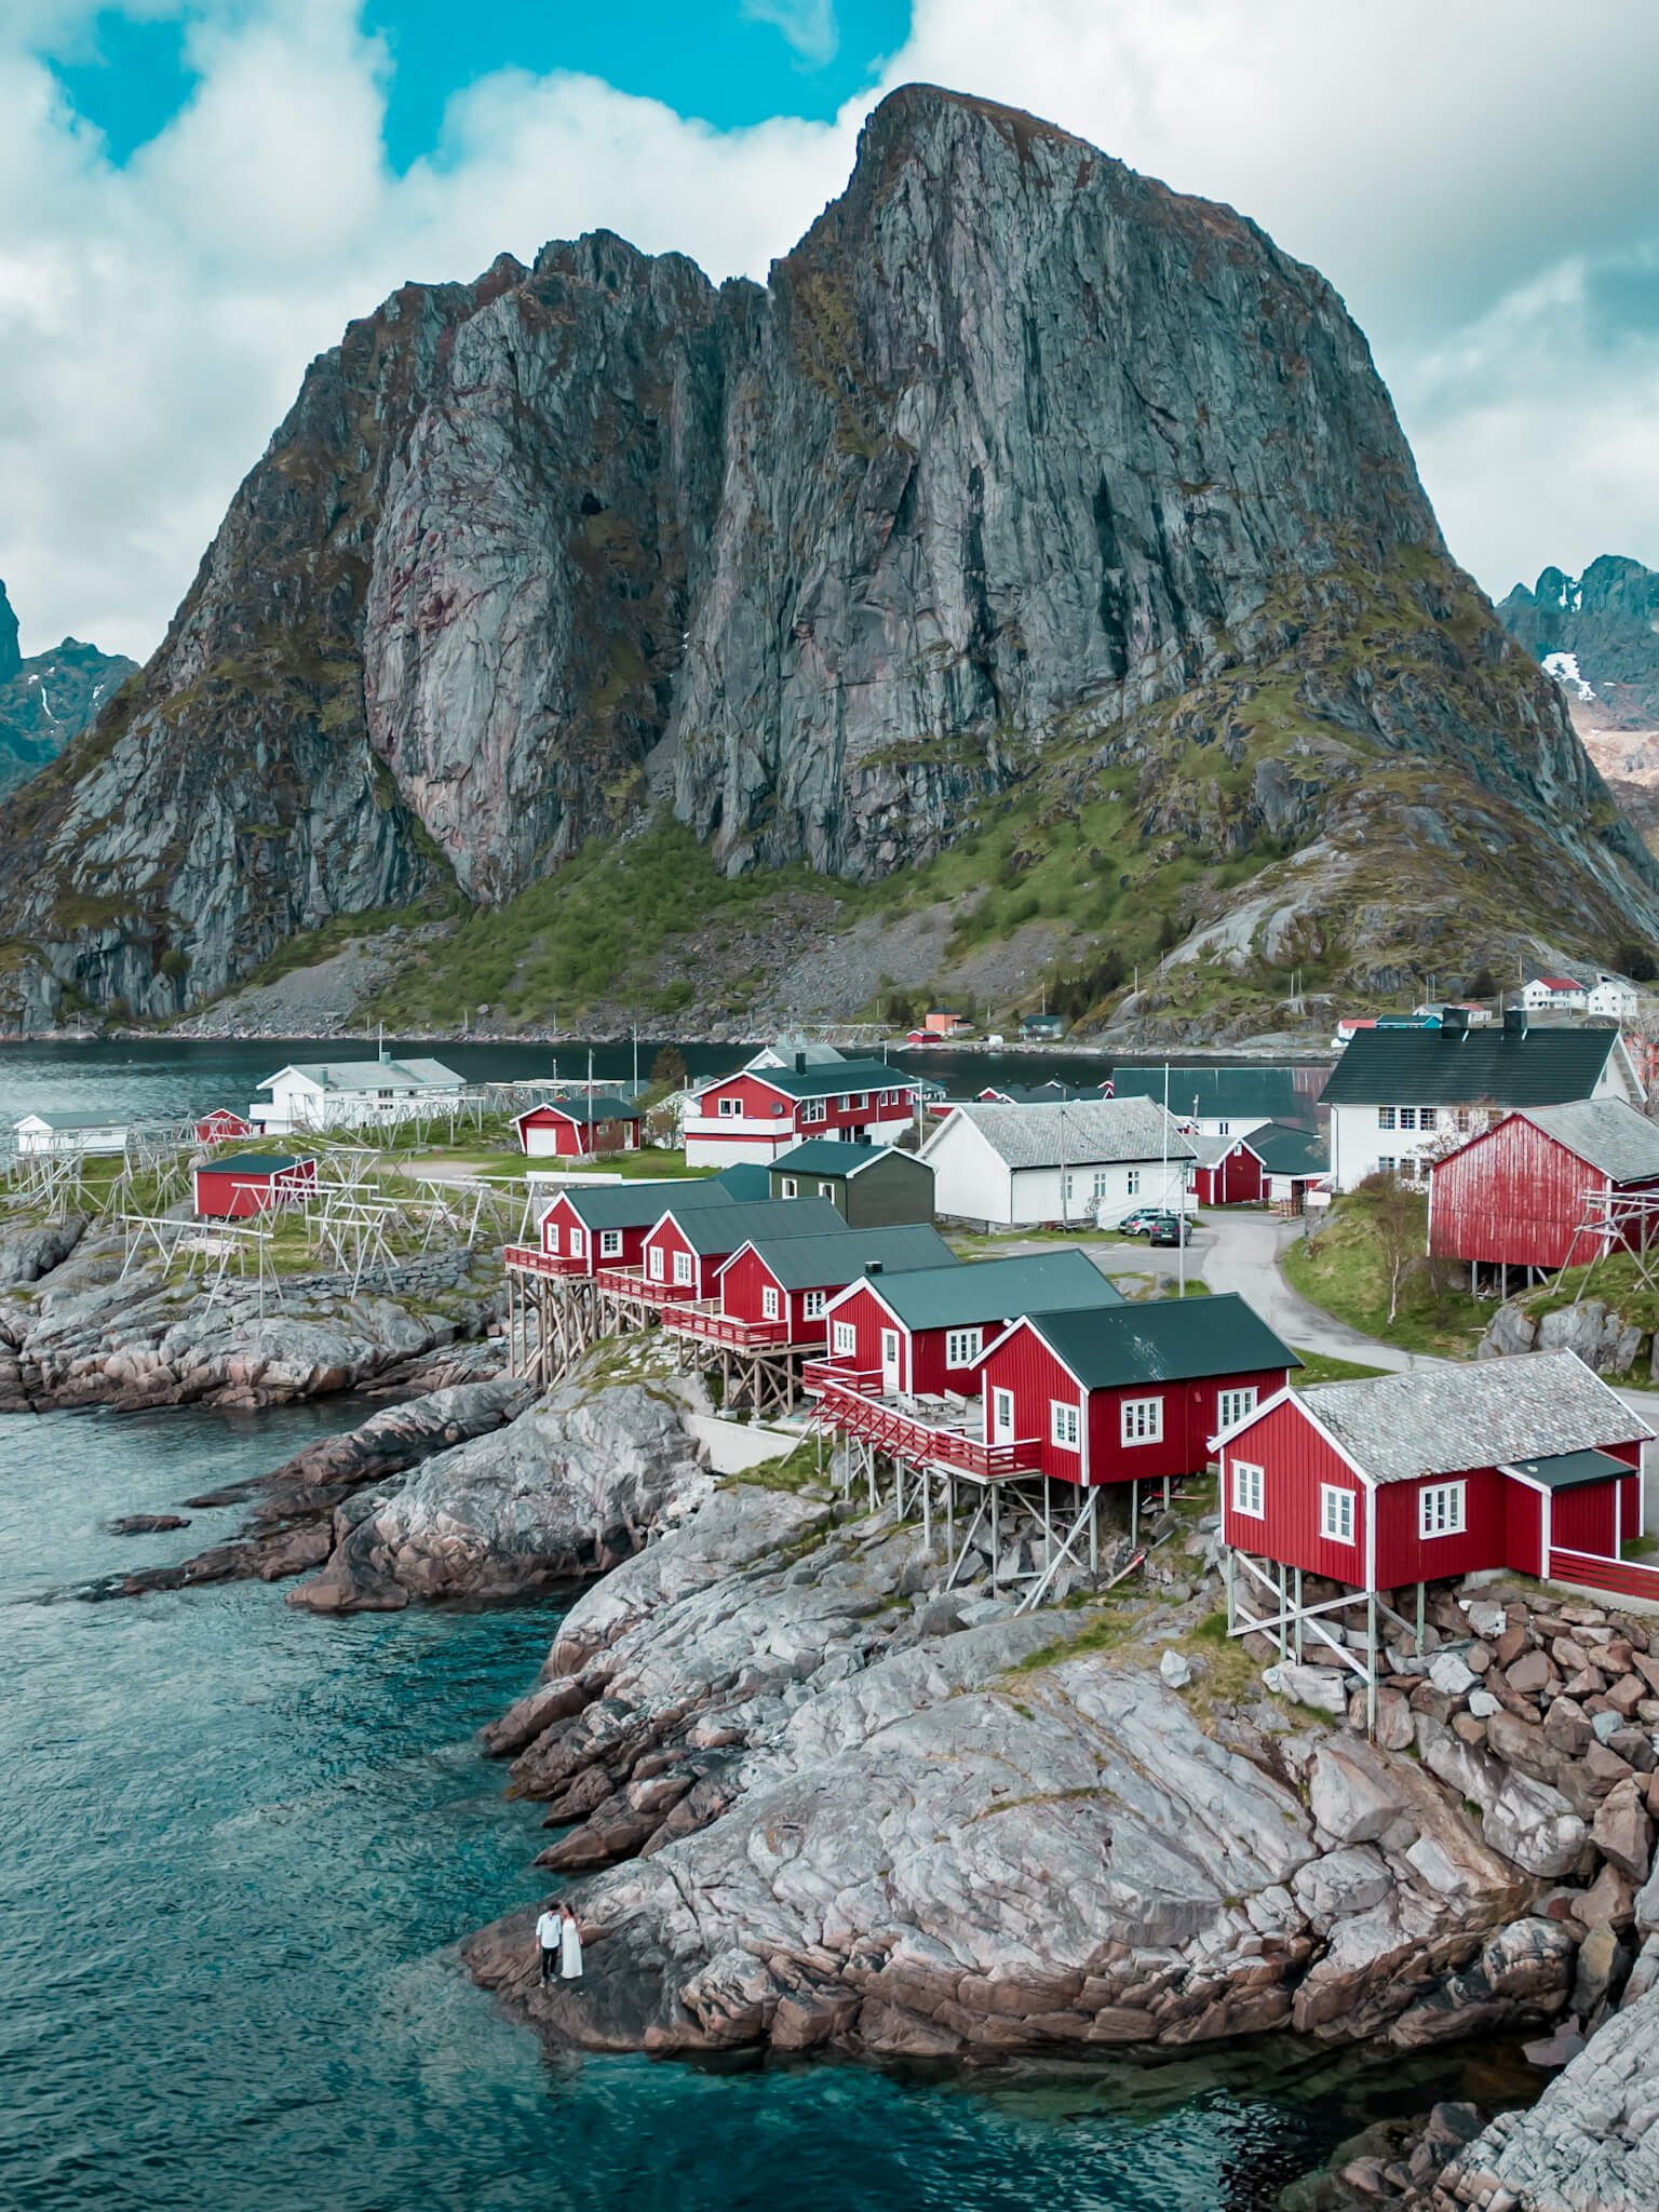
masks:
<svg viewBox="0 0 1659 2212"><path fill-rule="evenodd" d="M383 1613L595 1575L706 1489L675 1400L641 1383L566 1385L500 1433L429 1458L396 1495L338 1509L327 1566L288 1604Z"/></svg>

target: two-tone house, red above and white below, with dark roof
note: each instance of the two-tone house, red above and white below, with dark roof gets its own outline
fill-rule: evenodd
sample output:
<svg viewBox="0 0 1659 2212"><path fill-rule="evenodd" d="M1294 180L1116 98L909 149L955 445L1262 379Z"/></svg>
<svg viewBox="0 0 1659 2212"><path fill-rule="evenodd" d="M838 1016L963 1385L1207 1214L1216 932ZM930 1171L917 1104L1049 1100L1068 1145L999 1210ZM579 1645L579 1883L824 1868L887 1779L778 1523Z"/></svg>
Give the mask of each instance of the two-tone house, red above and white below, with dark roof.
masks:
<svg viewBox="0 0 1659 2212"><path fill-rule="evenodd" d="M701 1084L686 1102L686 1166L768 1164L807 1137L896 1144L916 1117L916 1079L885 1060L752 1066Z"/></svg>

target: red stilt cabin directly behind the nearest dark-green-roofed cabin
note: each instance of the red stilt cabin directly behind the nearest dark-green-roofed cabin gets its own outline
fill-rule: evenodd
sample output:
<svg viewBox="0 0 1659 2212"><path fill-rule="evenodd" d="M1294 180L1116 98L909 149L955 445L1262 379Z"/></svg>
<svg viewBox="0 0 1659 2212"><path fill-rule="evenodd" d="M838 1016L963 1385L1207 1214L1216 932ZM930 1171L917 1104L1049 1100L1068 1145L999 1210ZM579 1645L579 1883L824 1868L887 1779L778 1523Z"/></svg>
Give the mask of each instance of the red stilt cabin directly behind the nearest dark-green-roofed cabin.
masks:
<svg viewBox="0 0 1659 2212"><path fill-rule="evenodd" d="M1121 1305L1075 1248L865 1276L830 1301L830 1367L869 1396L978 1394L984 1347L1020 1314Z"/></svg>

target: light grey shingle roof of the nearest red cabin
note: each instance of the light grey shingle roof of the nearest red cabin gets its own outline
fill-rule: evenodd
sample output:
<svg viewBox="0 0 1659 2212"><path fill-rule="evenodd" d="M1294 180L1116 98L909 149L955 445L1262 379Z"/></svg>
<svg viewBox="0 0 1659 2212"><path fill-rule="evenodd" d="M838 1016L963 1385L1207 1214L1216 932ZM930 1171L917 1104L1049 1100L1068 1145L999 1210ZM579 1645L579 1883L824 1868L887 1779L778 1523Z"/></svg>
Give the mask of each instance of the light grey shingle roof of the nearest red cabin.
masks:
<svg viewBox="0 0 1659 2212"><path fill-rule="evenodd" d="M1628 1444L1652 1429L1575 1352L1418 1367L1296 1394L1376 1482Z"/></svg>

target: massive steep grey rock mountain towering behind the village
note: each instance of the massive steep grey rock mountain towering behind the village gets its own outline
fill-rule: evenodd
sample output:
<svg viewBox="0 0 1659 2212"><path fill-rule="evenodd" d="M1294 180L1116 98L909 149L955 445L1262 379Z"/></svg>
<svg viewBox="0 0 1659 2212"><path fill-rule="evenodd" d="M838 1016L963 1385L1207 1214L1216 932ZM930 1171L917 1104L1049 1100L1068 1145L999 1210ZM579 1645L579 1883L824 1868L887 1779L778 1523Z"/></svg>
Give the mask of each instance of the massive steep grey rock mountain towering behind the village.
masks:
<svg viewBox="0 0 1659 2212"><path fill-rule="evenodd" d="M637 918L635 1004L639 942L781 867L876 887L801 909L818 949L902 902L933 975L1035 929L1159 956L1170 1018L1659 931L1325 279L931 86L763 288L599 232L349 325L142 679L7 810L0 989L166 1013L425 905L473 909L429 1013L568 1013L573 856L582 914ZM697 945L677 989L748 958Z"/></svg>

